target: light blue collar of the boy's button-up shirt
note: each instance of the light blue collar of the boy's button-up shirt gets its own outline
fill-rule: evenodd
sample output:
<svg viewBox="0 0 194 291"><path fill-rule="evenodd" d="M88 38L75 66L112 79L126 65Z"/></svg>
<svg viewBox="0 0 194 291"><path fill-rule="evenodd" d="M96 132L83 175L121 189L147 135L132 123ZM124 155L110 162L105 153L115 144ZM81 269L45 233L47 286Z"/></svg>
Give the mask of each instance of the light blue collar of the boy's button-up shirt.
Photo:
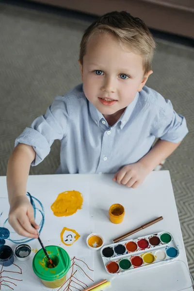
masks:
<svg viewBox="0 0 194 291"><path fill-rule="evenodd" d="M139 92L137 92L135 98L127 106L127 108L125 109L124 113L121 115L119 120L115 123L115 125L120 123L120 128L121 129L124 128L124 126L126 125L126 123L128 122L128 120L130 118L131 113L133 112L133 109L135 108L135 105L137 103L138 97L139 97ZM99 125L100 122L105 121L106 125L108 126L108 123L107 123L106 119L104 118L104 116L102 115L102 113L100 113L97 110L97 108L90 101L88 101L88 102L89 102L89 112L90 112L91 118L95 121L95 123L97 125Z"/></svg>

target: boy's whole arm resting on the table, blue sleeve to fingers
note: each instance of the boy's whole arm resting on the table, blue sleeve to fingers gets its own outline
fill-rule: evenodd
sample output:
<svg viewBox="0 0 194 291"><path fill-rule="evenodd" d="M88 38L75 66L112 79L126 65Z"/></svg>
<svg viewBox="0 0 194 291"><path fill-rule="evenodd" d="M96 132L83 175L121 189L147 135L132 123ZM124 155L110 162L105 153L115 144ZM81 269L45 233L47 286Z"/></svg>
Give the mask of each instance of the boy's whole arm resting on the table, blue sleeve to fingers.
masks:
<svg viewBox="0 0 194 291"><path fill-rule="evenodd" d="M165 100L157 92L154 100L158 105L154 110L151 108L154 119L149 134L160 139L138 162L124 166L115 174L113 180L119 184L137 188L160 162L172 154L188 133L184 116L174 111L170 100Z"/></svg>

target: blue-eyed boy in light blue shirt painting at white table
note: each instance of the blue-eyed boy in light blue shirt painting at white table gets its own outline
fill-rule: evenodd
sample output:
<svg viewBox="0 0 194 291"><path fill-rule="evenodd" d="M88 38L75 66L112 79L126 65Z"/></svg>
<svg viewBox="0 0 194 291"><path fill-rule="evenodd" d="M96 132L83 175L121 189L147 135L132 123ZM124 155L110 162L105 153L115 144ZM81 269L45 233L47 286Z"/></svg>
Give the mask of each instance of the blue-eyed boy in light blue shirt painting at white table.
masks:
<svg viewBox="0 0 194 291"><path fill-rule="evenodd" d="M37 238L27 178L55 139L61 140L57 173L116 173L114 181L132 188L178 147L188 132L185 118L145 86L154 49L145 23L127 12L101 16L85 31L83 84L57 97L23 131L9 159L9 223L17 233Z"/></svg>

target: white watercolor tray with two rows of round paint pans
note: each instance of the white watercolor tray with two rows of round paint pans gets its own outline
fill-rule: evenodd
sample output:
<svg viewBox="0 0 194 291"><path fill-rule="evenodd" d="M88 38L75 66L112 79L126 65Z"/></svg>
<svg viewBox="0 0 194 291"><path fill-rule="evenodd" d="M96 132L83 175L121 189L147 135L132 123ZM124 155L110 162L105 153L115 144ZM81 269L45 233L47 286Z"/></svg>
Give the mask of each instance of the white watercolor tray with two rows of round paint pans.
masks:
<svg viewBox="0 0 194 291"><path fill-rule="evenodd" d="M168 232L160 232L135 240L116 242L101 248L101 257L110 275L125 274L131 269L177 258L178 246Z"/></svg>

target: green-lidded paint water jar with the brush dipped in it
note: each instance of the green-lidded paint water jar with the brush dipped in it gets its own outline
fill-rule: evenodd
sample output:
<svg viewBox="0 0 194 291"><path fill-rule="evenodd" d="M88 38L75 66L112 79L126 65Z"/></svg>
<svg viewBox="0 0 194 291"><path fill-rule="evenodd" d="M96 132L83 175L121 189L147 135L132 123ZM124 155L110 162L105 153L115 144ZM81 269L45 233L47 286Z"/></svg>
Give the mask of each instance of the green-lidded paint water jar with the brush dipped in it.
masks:
<svg viewBox="0 0 194 291"><path fill-rule="evenodd" d="M70 269L70 257L60 246L49 245L46 246L46 250L55 267L50 268L43 249L40 249L33 258L33 271L46 287L61 287L65 283L66 274Z"/></svg>

